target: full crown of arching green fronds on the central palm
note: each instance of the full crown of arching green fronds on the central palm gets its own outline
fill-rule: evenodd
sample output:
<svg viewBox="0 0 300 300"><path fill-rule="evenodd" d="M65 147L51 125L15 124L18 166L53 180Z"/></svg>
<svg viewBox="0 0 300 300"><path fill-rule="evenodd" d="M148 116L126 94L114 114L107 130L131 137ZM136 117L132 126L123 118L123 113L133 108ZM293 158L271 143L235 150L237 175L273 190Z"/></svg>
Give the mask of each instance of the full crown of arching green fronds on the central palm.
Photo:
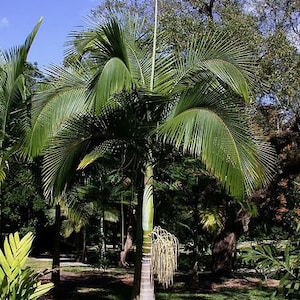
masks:
<svg viewBox="0 0 300 300"><path fill-rule="evenodd" d="M90 59L107 60L100 70L93 71L92 68L95 67L88 66L86 61L81 64L78 62L68 69L54 67L49 70L51 76L48 77L47 84L50 85L45 92L37 95L34 102L34 122L28 148L28 152L35 155L43 151L50 142L44 162L46 190L49 192L54 188L54 192L59 192L64 187L67 178L70 178L66 175L69 174L67 171L71 170L73 161L78 162L79 168L87 167L103 157L105 152L111 151L113 146L119 145L120 140L127 145L129 142L134 144L132 136L129 135L131 132L134 132L135 143L139 137L137 133L141 135L139 138L144 140L149 130L154 130L157 126L157 114L165 121L157 128L159 138L182 147L183 151L200 155L207 168L222 180L232 194L241 195L245 189L248 192L253 190L264 174L270 174L267 166L271 165L271 159L265 160L268 164L265 169L259 171L258 167L262 163L262 153L271 158L272 150L260 140L246 143L246 137L252 136L252 131L249 129L241 102L238 96L221 85L221 82L224 82L249 101L247 80L251 81L249 66L254 63L251 54L241 44L236 44L234 48L230 46L233 42L223 33L207 33L199 41L191 43L185 55L177 53L176 56L176 53L171 52L157 55L154 81L157 84L150 93L147 89L150 87L152 52L149 42L139 39L140 30L126 30L126 43L121 39L125 38L125 33L115 20L95 32L87 31L86 36L82 34L81 44L87 44L83 48L84 59L87 60L90 55ZM119 44L114 35L119 38ZM215 40L219 43L214 43ZM135 43L131 45L133 41ZM76 43L79 44L79 38ZM216 65L217 62L220 65ZM126 74L121 76L122 80L116 77L120 75L120 72L117 72L119 68ZM230 77L231 72L233 78ZM188 85L189 81L191 85ZM130 94L128 98L126 93L122 94L123 89L136 94ZM236 101L232 105L231 101L234 98ZM220 99L222 101L219 101ZM134 130L141 131L139 122L141 118L145 119L146 105L149 106L151 118L148 117L146 125L143 125L143 132L136 132ZM62 110L62 106L67 111ZM139 115L133 112L137 107ZM84 111L87 113L83 114ZM238 118L238 115L242 118ZM129 124L128 120L124 119L126 116L131 117ZM132 124L133 117L137 120L135 124ZM227 123L221 122L221 117ZM207 123L206 127L202 125L204 122ZM120 128L121 123L123 130ZM125 131L125 124L137 127ZM206 129L201 131L197 128ZM110 136L110 139L106 136ZM194 142L189 142L191 136L195 137ZM90 143L92 138L99 140L98 147L90 150L85 157L79 155L78 149L84 150L83 153L89 151L93 145ZM204 147L204 143L208 141L211 141L211 144ZM69 147L66 147L67 144ZM220 149L220 153L211 149ZM247 157L250 165L243 165L242 160L247 151L251 152ZM228 155L227 159L220 163L220 157L225 153ZM226 177L226 172L230 173L231 168L238 172L238 175Z"/></svg>

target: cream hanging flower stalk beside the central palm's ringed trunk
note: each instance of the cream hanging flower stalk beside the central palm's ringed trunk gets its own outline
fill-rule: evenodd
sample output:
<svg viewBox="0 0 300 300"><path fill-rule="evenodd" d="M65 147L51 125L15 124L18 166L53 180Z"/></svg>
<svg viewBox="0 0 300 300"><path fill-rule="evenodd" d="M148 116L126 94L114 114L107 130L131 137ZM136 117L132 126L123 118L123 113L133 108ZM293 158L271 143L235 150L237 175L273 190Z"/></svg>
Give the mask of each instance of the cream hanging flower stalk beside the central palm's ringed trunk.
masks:
<svg viewBox="0 0 300 300"><path fill-rule="evenodd" d="M177 237L160 226L152 231L152 274L165 288L173 284L177 270L179 241Z"/></svg>

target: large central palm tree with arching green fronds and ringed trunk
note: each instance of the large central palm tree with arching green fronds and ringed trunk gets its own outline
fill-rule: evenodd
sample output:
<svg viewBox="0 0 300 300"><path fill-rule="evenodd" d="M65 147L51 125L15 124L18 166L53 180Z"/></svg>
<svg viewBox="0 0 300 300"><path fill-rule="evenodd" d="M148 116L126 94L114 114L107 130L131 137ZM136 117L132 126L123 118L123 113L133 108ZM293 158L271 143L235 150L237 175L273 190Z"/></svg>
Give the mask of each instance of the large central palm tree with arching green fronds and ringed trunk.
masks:
<svg viewBox="0 0 300 300"><path fill-rule="evenodd" d="M69 54L78 60L52 67L36 96L27 152L44 154L46 195L58 195L76 172L107 156L120 154L121 167L143 166L139 295L154 299L154 145L169 143L199 157L237 197L270 179L272 149L253 134L243 103L251 98L253 56L218 32L193 37L176 52L163 34L149 37L128 18L74 34Z"/></svg>

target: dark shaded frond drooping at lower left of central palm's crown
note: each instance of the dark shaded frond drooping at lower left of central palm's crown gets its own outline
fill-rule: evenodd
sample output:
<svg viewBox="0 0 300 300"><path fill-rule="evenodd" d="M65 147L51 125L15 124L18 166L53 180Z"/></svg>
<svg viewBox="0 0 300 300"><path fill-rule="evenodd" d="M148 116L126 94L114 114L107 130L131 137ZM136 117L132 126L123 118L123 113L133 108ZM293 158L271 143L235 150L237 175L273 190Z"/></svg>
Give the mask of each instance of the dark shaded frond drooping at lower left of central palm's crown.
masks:
<svg viewBox="0 0 300 300"><path fill-rule="evenodd" d="M78 114L61 125L44 152L43 178L46 195L51 193L52 188L54 196L62 192L65 184L74 179L76 170L83 168L85 164L86 167L90 160L99 158L99 149L108 151L108 145L111 145L111 151L114 151L115 145L120 145L118 139L112 138L113 132L110 132L109 124L108 120L92 114Z"/></svg>

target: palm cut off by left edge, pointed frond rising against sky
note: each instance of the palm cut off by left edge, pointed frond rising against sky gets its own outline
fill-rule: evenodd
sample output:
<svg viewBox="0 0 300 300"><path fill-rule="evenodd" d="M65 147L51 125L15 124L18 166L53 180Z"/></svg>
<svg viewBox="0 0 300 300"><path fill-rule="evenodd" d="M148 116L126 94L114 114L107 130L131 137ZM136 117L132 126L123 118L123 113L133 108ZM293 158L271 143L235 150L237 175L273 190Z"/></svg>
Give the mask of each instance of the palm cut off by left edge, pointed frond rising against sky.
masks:
<svg viewBox="0 0 300 300"><path fill-rule="evenodd" d="M28 106L27 55L41 25L42 18L34 26L23 45L0 51L0 186L6 178L8 160L19 147L20 132L16 134L17 113ZM25 122L26 117L21 114ZM14 134L13 139L11 134ZM13 140L13 142L12 142ZM0 203L1 237L1 203Z"/></svg>

